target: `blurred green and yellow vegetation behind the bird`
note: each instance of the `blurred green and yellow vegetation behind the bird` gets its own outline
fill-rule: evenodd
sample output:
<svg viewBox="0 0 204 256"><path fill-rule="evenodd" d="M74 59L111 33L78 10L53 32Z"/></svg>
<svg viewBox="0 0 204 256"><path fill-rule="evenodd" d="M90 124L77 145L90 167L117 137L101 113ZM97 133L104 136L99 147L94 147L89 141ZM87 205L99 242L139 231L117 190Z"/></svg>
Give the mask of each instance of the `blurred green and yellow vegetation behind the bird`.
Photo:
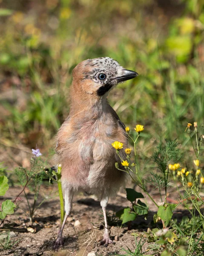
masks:
<svg viewBox="0 0 204 256"><path fill-rule="evenodd" d="M48 153L73 67L101 56L139 73L109 94L132 133L145 127L139 157L164 138L191 154L187 122L204 123L204 0L0 0L0 161Z"/></svg>

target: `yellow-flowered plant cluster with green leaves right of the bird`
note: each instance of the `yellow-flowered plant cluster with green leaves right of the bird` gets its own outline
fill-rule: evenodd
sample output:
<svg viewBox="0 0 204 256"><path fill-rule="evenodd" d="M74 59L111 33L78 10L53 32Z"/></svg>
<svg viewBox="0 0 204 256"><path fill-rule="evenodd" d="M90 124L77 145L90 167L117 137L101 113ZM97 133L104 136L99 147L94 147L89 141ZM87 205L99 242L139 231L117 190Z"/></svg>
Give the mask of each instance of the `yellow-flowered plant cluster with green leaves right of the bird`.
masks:
<svg viewBox="0 0 204 256"><path fill-rule="evenodd" d="M191 126L188 123L186 131L189 135L192 132ZM139 175L141 172L138 167L136 153L136 143L143 130L143 125L136 125L135 131L137 137L133 139L130 135L129 127L126 127L126 133L134 144L133 159L131 159L131 148L125 149L126 159L121 158L120 150L123 148L123 143L115 141L112 143L112 146L116 149L116 153L121 159L121 163L115 163L116 168L126 172L158 209L153 220L155 224L161 221L163 229L153 228L149 230L149 233L146 233L148 240L155 242L155 244L149 247L149 250L153 250L155 253L161 253L162 256L186 256L187 253L188 255L193 255L195 248L197 253L201 253L204 247L201 241L204 240L202 238L203 233L199 234L198 231L203 232L204 230L204 215L202 211L204 201L201 196L204 177L199 157L204 136L202 134L198 136L198 124L194 122L193 136L196 146L194 147L193 136L191 135L190 142L193 145L193 151L196 157L192 161L195 168L187 166L187 164L182 168L179 162L181 162L183 154L181 154L178 148L178 142L176 140L165 140L165 143L161 143L151 157L156 164L156 170L150 172L150 177L145 180ZM124 166L124 169L121 169L120 166ZM154 189L158 189L161 199L160 204L147 192L148 184L151 184ZM171 187L176 187L178 201L173 200L174 203L170 204L167 201L167 195L168 189ZM126 194L127 199L131 202L131 207L126 207L116 213L116 216L122 220L122 224L134 221L138 215L146 216L148 213L147 205L138 199L144 198L144 195L136 192L134 189L126 189ZM191 216L191 219L188 219L189 223L191 222L188 230L189 233L182 227L182 222L177 222L173 217L175 209L181 206L187 209ZM132 254L129 253L127 255Z"/></svg>

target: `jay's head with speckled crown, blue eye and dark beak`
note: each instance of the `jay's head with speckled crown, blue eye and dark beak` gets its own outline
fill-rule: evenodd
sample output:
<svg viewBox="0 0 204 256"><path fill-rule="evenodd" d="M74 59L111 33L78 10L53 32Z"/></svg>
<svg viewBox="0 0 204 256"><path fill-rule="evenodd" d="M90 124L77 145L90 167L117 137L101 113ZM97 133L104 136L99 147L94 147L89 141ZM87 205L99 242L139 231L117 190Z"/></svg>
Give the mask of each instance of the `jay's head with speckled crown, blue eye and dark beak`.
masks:
<svg viewBox="0 0 204 256"><path fill-rule="evenodd" d="M118 83L135 78L138 73L126 70L109 57L87 59L78 64L73 72L75 89L96 97L106 95Z"/></svg>

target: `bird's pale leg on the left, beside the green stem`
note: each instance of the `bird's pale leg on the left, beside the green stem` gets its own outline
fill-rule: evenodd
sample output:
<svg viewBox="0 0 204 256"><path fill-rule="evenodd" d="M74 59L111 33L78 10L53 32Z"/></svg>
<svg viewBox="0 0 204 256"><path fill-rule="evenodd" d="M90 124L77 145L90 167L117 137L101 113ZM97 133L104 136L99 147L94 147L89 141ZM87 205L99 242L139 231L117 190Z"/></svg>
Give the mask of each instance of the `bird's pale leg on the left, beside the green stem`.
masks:
<svg viewBox="0 0 204 256"><path fill-rule="evenodd" d="M65 201L65 216L64 216L64 220L63 220L63 223L58 231L58 235L57 235L57 239L55 241L55 244L53 246L53 249L54 250L57 250L59 247L63 246L63 237L62 237L62 233L63 233L63 229L64 229L64 226L66 224L66 220L67 220L67 217L68 215L70 214L70 212L72 211L72 199L73 199L73 195L74 195L74 192L73 192L73 189L67 189L65 190L65 198L64 198L64 201Z"/></svg>

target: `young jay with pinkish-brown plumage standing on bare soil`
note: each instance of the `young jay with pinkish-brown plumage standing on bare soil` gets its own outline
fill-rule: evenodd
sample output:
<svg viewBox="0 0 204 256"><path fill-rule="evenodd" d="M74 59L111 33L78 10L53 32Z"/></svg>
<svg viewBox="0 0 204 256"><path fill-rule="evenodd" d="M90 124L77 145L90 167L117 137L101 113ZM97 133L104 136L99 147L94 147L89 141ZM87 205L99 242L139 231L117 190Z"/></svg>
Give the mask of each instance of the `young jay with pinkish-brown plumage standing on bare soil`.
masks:
<svg viewBox="0 0 204 256"><path fill-rule="evenodd" d="M107 224L106 207L126 181L126 172L115 163L126 159L128 137L125 125L109 105L107 96L118 83L133 79L138 73L126 70L109 57L87 59L72 71L69 116L56 135L55 162L60 163L65 202L65 216L53 246L63 246L63 229L72 211L73 195L79 189L95 194L104 216L101 244L112 243ZM123 143L120 157L112 143ZM122 169L123 166L119 164Z"/></svg>

